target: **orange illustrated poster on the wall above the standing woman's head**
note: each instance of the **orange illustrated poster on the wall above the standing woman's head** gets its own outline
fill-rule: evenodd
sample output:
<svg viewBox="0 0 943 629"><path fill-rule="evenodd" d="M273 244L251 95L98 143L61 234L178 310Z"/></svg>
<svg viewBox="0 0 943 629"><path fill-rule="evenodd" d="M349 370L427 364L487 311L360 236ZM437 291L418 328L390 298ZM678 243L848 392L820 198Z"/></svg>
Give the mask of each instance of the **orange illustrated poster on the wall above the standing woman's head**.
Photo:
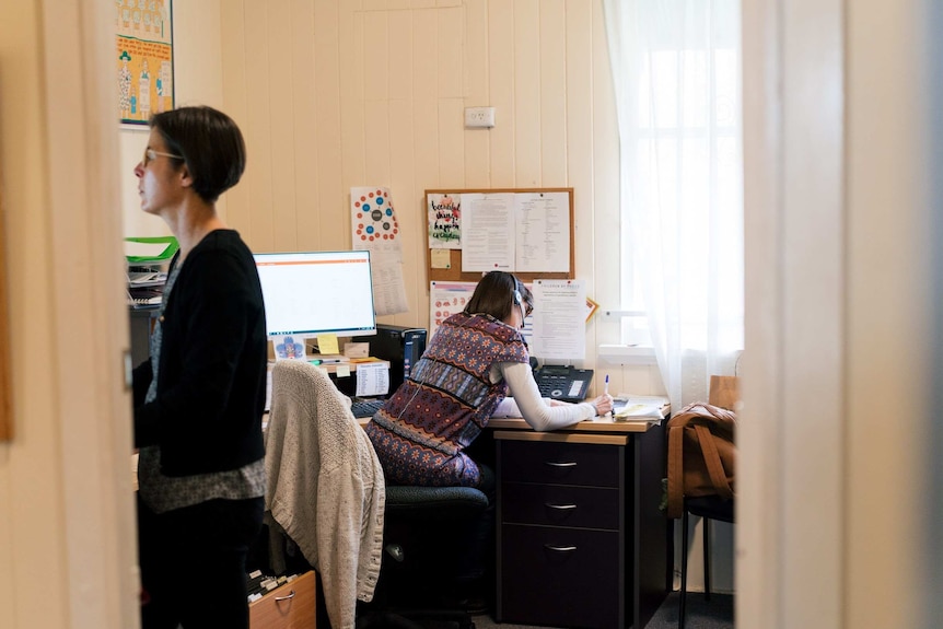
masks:
<svg viewBox="0 0 943 629"><path fill-rule="evenodd" d="M145 126L151 114L174 108L171 0L115 0L118 115Z"/></svg>

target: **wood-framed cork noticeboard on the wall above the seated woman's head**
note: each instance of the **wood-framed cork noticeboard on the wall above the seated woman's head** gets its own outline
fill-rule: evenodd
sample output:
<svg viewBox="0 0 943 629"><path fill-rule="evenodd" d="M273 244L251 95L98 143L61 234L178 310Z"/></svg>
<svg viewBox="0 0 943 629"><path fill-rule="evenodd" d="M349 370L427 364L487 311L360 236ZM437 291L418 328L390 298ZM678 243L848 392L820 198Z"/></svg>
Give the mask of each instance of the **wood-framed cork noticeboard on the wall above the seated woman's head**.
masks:
<svg viewBox="0 0 943 629"><path fill-rule="evenodd" d="M465 195L465 194L533 194L533 193L564 193L569 200L569 270L568 271L517 271L508 269L517 276L521 281L531 282L535 279L573 279L575 278L575 253L573 247L574 224L573 224L573 188L436 188L427 189L423 195L423 203L426 213L430 208L430 195ZM429 224L423 221L427 229L427 247L426 247L426 270L429 276L429 281L467 281L477 282L481 279L481 271L462 271L462 249L433 249L429 245L428 234ZM433 264L433 252L438 260ZM441 268L443 257L447 257L449 268Z"/></svg>

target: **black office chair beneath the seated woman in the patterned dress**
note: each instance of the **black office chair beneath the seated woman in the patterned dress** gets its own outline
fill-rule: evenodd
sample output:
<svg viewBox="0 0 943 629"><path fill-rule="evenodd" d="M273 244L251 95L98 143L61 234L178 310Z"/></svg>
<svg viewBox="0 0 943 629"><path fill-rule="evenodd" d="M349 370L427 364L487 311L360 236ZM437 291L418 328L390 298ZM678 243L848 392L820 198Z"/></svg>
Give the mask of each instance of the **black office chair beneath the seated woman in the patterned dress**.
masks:
<svg viewBox="0 0 943 629"><path fill-rule="evenodd" d="M357 628L474 629L461 602L444 599L456 576L449 569L487 508L485 493L470 487L386 486L380 580Z"/></svg>

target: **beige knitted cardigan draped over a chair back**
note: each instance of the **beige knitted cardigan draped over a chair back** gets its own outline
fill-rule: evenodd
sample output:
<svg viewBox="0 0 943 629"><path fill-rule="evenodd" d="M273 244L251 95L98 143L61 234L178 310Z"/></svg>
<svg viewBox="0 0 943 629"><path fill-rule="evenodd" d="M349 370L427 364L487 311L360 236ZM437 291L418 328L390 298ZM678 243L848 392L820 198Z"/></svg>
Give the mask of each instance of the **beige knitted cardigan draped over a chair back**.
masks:
<svg viewBox="0 0 943 629"><path fill-rule="evenodd" d="M354 626L380 575L383 469L350 399L304 361L272 370L266 430L266 512L321 574L335 629Z"/></svg>

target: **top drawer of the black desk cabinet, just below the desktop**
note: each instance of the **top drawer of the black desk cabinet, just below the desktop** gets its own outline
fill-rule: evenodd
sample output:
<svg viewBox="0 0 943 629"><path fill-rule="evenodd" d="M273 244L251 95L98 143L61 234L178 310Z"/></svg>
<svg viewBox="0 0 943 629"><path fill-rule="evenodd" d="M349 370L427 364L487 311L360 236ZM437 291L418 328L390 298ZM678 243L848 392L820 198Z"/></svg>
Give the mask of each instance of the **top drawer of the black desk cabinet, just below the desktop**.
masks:
<svg viewBox="0 0 943 629"><path fill-rule="evenodd" d="M587 443L499 441L502 480L618 487L625 449Z"/></svg>

